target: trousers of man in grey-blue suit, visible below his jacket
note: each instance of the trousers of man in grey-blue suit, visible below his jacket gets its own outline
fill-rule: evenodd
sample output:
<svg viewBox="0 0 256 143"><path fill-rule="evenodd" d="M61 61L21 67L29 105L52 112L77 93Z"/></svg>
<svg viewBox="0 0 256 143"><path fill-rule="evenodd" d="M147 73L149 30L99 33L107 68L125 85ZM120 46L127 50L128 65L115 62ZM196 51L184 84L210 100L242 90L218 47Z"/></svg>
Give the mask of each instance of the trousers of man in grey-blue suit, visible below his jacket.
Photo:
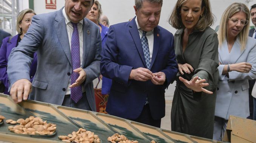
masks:
<svg viewBox="0 0 256 143"><path fill-rule="evenodd" d="M83 110L90 110L91 111L91 107L89 105L89 102L87 100L85 92L83 93L82 98L77 103L75 103L70 98L70 95L65 95L65 98L63 100L62 106L78 108L78 109L83 109Z"/></svg>

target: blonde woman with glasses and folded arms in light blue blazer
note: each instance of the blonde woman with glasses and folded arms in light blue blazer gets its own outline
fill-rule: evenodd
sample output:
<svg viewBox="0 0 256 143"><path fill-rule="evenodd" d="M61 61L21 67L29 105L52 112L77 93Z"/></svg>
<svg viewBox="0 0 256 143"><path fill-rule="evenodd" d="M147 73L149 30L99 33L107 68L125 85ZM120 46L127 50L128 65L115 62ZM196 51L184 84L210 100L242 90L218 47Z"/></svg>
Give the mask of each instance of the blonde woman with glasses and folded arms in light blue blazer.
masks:
<svg viewBox="0 0 256 143"><path fill-rule="evenodd" d="M250 11L242 3L231 4L222 15L214 140L222 140L230 115L250 115L248 80L256 78L256 40L248 37L248 23Z"/></svg>

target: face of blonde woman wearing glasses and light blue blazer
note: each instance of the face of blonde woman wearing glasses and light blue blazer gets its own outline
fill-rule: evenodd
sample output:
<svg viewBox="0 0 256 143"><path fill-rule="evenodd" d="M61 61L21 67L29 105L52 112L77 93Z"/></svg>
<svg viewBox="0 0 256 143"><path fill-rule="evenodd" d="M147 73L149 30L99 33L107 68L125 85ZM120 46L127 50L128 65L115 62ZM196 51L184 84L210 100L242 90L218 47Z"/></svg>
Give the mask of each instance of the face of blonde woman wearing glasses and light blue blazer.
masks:
<svg viewBox="0 0 256 143"><path fill-rule="evenodd" d="M245 22L241 20L246 20L246 14L242 11L236 12L228 19L228 38L236 38L242 31Z"/></svg>

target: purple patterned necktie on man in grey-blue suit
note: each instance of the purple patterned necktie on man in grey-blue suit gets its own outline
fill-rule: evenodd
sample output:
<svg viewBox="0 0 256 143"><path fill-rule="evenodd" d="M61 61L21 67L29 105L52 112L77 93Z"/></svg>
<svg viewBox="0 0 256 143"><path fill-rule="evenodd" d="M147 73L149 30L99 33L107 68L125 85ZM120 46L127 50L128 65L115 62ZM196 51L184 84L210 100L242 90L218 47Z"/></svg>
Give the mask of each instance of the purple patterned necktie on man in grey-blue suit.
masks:
<svg viewBox="0 0 256 143"><path fill-rule="evenodd" d="M71 22L72 23L72 22ZM72 23L73 33L71 38L71 57L72 57L72 68L80 68L80 47L79 47L79 35L77 29L77 23ZM72 72L71 74L71 85L76 82L79 74L77 72ZM71 88L71 99L74 102L78 102L82 98L82 86L72 87Z"/></svg>

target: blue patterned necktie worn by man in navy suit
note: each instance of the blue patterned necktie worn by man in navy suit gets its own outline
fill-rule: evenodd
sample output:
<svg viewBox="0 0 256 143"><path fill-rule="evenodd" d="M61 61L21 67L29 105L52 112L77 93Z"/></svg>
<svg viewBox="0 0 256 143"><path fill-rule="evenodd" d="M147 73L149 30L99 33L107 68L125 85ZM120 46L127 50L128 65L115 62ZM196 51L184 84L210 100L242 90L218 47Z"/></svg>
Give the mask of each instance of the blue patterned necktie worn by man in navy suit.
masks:
<svg viewBox="0 0 256 143"><path fill-rule="evenodd" d="M148 47L148 39L146 37L146 33L147 32L143 31L140 41L141 41L141 44L142 44L143 53L144 53L144 57L145 57L145 60L146 60L147 68L150 69L150 64L151 64L150 51L149 51L149 47Z"/></svg>

